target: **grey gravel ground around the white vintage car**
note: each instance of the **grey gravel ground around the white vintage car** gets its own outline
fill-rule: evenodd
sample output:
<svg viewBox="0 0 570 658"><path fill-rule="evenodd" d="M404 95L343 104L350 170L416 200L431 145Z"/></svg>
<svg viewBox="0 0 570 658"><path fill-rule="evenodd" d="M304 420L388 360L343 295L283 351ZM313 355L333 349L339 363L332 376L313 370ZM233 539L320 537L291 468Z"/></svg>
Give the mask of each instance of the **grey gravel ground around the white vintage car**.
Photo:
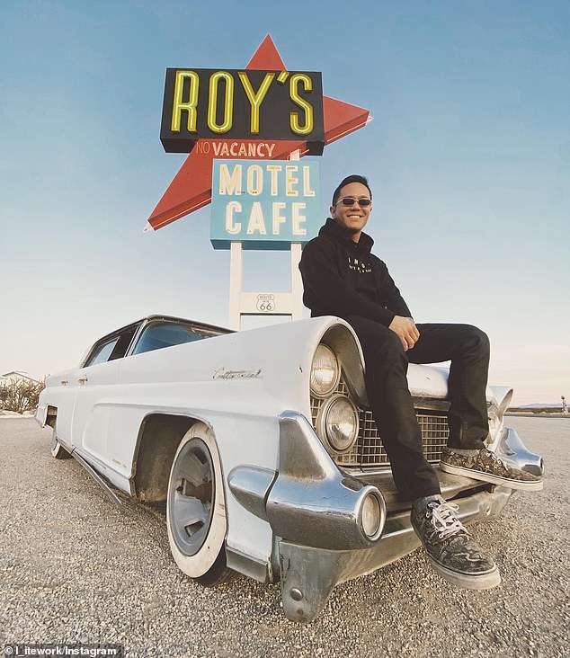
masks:
<svg viewBox="0 0 570 658"><path fill-rule="evenodd" d="M0 420L3 530L0 647L119 643L129 656L262 658L570 656L570 419L510 418L544 455L544 491L515 494L503 517L472 526L503 584L464 591L420 550L339 585L312 624L289 622L277 585L243 576L203 589L171 559L160 513L118 510L49 430Z"/></svg>

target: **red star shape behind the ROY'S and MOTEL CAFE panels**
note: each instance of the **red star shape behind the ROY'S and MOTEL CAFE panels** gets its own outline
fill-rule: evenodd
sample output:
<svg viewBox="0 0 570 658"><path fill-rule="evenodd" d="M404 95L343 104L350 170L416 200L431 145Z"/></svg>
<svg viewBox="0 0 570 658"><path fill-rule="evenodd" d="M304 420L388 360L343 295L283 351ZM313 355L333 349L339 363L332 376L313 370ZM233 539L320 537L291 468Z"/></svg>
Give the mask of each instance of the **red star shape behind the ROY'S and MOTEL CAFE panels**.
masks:
<svg viewBox="0 0 570 658"><path fill-rule="evenodd" d="M286 70L281 55L269 34L245 68L265 71ZM323 96L323 112L325 115L325 144L330 144L336 139L362 128L371 120L370 111L349 102L336 101L328 96ZM203 149L199 147L200 141L202 140L197 141L162 199L158 201L156 208L148 218L145 231L156 231L158 228L165 227L176 219L206 206L211 201L212 160L217 156L212 149L209 150L209 153L204 153ZM217 140L220 145L225 141L229 148L231 140ZM260 147L266 147L263 155L269 156L272 160L287 159L296 150L299 150L301 156L308 152L307 142L302 140L276 141L274 144L275 147L271 154L267 145L260 145ZM259 152L257 156L259 156ZM255 156L244 156L244 159L247 157Z"/></svg>

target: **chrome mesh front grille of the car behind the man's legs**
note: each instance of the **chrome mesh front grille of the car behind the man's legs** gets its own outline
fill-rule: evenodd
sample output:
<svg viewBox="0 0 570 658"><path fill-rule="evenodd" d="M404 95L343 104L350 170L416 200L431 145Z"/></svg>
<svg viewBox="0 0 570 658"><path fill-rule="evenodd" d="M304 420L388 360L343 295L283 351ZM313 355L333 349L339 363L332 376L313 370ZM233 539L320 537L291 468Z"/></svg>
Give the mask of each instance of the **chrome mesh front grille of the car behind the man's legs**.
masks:
<svg viewBox="0 0 570 658"><path fill-rule="evenodd" d="M349 396L348 388L341 378L334 393ZM324 400L311 397L311 416L313 426L316 427L316 416ZM441 457L441 449L447 445L450 430L445 413L433 411L416 410L416 415L423 436L423 454L430 462L438 462ZM348 452L342 455L333 455L334 461L343 467L379 467L387 466L390 461L387 458L386 449L379 436L376 422L372 418L370 409L359 409L359 433L358 440Z"/></svg>

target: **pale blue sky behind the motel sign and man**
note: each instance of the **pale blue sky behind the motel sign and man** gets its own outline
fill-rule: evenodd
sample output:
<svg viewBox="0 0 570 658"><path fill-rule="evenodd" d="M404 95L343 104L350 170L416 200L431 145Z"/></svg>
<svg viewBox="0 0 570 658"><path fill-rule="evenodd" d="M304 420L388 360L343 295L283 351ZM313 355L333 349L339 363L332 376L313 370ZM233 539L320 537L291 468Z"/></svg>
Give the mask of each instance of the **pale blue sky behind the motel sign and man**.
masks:
<svg viewBox="0 0 570 658"><path fill-rule="evenodd" d="M418 322L489 333L515 401L570 396L570 4L31 0L0 4L0 373L75 365L150 313L227 325L209 207L143 234L183 163L158 138L167 67L240 68L271 33L290 69L370 109L325 147ZM283 253L245 287L286 289Z"/></svg>

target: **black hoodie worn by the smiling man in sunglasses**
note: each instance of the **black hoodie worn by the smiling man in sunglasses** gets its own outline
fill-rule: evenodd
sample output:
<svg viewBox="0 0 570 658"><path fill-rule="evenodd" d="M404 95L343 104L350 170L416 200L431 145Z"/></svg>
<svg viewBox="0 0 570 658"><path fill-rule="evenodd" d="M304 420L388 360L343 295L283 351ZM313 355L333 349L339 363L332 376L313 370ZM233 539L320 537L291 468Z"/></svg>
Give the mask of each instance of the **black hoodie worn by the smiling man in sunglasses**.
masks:
<svg viewBox="0 0 570 658"><path fill-rule="evenodd" d="M411 316L386 263L370 253L374 240L351 235L328 218L303 249L298 267L311 317L361 316L388 326L394 316Z"/></svg>

